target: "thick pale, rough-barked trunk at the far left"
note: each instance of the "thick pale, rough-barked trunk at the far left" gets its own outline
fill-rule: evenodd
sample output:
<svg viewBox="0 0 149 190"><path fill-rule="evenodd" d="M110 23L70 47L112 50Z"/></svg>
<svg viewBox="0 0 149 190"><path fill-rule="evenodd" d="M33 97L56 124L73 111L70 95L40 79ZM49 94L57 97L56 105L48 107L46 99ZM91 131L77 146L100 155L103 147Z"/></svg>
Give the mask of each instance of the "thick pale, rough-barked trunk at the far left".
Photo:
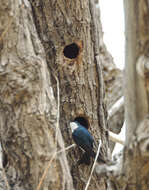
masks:
<svg viewBox="0 0 149 190"><path fill-rule="evenodd" d="M0 126L12 189L36 189L57 150L57 103L45 52L28 1L0 1ZM58 136L61 148L63 139ZM63 167L61 167L63 166ZM54 159L42 189L72 189L65 152Z"/></svg>

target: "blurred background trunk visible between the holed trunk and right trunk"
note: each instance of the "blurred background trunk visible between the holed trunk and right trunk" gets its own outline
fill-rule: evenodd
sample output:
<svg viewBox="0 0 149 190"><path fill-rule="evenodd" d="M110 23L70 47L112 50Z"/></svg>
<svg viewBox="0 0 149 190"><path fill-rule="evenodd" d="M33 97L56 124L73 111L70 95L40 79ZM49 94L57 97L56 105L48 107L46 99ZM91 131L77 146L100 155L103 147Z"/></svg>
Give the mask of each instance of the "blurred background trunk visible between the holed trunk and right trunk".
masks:
<svg viewBox="0 0 149 190"><path fill-rule="evenodd" d="M105 61L106 60L106 61ZM105 82L106 104L108 109L108 126L109 130L114 133L120 133L124 123L124 103L121 103L117 110L113 110L113 106L117 104L124 96L123 92L123 71L118 69L113 63L111 55L104 47L101 51L101 64L103 70L103 78ZM111 111L113 112L111 114ZM110 141L110 149L113 150L115 143Z"/></svg>

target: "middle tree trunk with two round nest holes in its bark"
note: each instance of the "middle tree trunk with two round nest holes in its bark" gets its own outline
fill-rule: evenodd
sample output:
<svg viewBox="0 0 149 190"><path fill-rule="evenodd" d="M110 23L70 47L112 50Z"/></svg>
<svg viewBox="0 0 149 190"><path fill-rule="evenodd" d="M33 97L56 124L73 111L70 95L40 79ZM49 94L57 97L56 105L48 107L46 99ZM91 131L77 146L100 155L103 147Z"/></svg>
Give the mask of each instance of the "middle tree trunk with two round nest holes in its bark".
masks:
<svg viewBox="0 0 149 190"><path fill-rule="evenodd" d="M107 157L107 137L103 81L100 68L98 22L92 1L31 1L34 19L43 43L49 72L60 82L60 128L65 145L73 143L70 120L83 116L89 120L90 131L97 141L102 136L102 151ZM42 7L42 9L41 9ZM44 23L44 25L43 25ZM75 43L79 48L76 58L64 55L64 48ZM56 96L56 82L53 77ZM67 158L76 189L83 189L90 167L76 167L81 153L69 151ZM75 163L75 164L74 164ZM90 189L101 187L94 176ZM102 187L101 187L102 188Z"/></svg>

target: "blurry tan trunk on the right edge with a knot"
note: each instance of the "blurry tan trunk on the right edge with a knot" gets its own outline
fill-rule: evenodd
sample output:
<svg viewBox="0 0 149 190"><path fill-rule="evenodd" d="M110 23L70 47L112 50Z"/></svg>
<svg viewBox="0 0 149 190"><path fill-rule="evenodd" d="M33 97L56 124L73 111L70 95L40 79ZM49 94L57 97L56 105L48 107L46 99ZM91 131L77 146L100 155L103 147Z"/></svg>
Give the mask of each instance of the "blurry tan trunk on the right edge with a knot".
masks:
<svg viewBox="0 0 149 190"><path fill-rule="evenodd" d="M149 2L125 0L124 5L126 144L123 157L115 167L98 167L97 172L109 175L114 190L148 190Z"/></svg>

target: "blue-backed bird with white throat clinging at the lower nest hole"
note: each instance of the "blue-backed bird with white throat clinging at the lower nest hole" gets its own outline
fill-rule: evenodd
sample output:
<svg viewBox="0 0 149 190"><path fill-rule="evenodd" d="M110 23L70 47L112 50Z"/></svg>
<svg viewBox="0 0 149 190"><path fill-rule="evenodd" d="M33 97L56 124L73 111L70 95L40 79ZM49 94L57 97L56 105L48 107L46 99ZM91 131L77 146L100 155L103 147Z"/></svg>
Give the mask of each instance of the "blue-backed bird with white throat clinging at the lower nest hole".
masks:
<svg viewBox="0 0 149 190"><path fill-rule="evenodd" d="M88 131L88 129L81 125L78 121L70 122L70 128L72 131L72 138L77 146L85 151L82 158L79 160L79 164L85 163L90 164L90 158L95 158L96 153L94 152L94 138ZM98 162L105 163L101 155L97 158Z"/></svg>

